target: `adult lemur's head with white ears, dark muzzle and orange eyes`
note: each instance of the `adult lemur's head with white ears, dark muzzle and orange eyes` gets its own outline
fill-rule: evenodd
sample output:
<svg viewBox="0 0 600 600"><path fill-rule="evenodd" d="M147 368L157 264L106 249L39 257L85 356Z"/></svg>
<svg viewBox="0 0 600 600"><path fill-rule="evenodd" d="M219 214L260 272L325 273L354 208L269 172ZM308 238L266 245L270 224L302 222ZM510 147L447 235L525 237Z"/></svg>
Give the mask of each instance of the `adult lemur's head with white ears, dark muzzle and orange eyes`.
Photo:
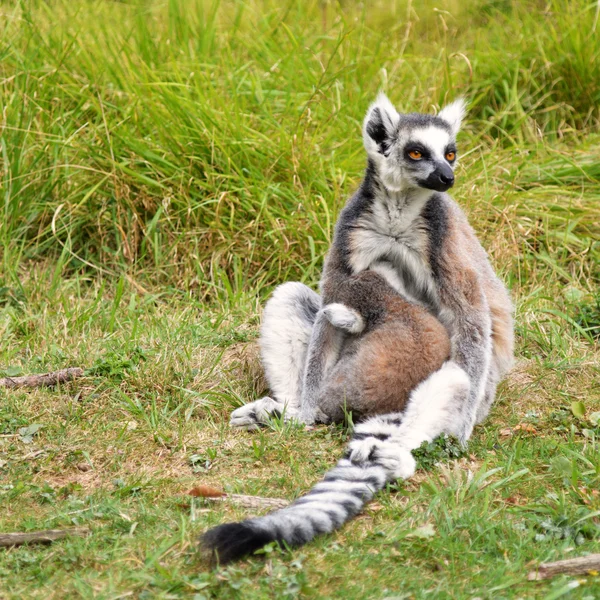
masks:
<svg viewBox="0 0 600 600"><path fill-rule="evenodd" d="M456 134L464 115L462 98L434 116L399 114L385 94L379 94L367 111L363 139L385 187L392 192L450 189L454 185Z"/></svg>

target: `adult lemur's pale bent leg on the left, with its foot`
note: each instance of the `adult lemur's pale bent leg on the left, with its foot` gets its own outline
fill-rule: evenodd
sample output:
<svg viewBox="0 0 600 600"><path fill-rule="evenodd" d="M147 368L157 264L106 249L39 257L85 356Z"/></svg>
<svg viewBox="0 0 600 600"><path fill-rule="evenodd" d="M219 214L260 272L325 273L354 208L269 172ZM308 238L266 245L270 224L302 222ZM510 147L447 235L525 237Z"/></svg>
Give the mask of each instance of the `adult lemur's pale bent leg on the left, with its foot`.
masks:
<svg viewBox="0 0 600 600"><path fill-rule="evenodd" d="M234 410L233 427L255 429L271 415L297 414L308 344L320 308L320 296L302 283L288 282L275 289L263 311L259 339L274 398L261 398Z"/></svg>

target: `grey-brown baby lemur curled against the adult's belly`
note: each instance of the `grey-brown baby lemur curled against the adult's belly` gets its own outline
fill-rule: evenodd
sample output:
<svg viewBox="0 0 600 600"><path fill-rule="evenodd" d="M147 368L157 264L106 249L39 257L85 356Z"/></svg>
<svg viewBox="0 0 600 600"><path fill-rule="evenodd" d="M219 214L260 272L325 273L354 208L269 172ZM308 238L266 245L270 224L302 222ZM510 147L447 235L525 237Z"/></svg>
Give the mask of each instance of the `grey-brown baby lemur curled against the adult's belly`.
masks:
<svg viewBox="0 0 600 600"><path fill-rule="evenodd" d="M349 277L335 295L326 314L354 335L320 393L320 409L333 421L344 410L354 420L401 411L410 392L450 357L446 329L374 271Z"/></svg>

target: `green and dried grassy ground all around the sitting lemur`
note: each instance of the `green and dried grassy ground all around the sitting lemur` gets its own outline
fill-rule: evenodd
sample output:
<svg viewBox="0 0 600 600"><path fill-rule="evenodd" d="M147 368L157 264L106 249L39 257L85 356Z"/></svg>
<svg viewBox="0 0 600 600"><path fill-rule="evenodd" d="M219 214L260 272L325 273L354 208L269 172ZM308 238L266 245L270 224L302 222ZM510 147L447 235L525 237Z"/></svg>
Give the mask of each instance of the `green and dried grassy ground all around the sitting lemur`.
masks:
<svg viewBox="0 0 600 600"><path fill-rule="evenodd" d="M600 42L584 2L0 3L0 552L13 598L600 598L528 581L600 552ZM261 307L316 286L379 87L470 100L453 196L515 301L516 364L465 452L339 532L211 569L208 527L291 500L348 425L228 427L266 392ZM452 448L451 448L452 449ZM258 511L260 512L260 510Z"/></svg>

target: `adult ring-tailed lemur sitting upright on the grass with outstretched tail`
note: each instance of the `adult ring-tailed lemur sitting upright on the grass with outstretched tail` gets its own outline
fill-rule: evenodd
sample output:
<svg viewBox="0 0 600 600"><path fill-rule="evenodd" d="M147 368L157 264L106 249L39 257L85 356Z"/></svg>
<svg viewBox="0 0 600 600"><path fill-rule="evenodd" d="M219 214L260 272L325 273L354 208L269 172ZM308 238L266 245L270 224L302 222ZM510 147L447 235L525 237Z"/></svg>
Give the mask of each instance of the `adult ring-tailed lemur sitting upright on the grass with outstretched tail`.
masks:
<svg viewBox="0 0 600 600"><path fill-rule="evenodd" d="M284 412L304 423L326 421L331 399L324 391L332 375L347 378L340 382L347 390L355 390L361 377L376 380L376 363L355 361L354 372L342 367L352 348L362 351L369 324L377 324L377 314L368 308L374 295L349 299L344 292L353 276L367 270L384 277L413 309L426 309L443 324L450 360L417 385L402 410L355 427L346 456L308 494L264 517L209 530L204 545L221 562L272 541L303 544L340 527L387 482L413 474L410 450L443 432L466 441L487 415L496 385L512 364L512 305L465 215L445 193L454 183L456 134L463 116L462 100L437 116L399 114L384 95L369 108L363 125L368 166L338 219L322 297L300 283L275 290L265 307L260 339L275 399L235 410L231 424L253 428ZM373 290L380 285L372 284ZM389 311L384 306L388 296L382 298L380 308ZM393 340L389 344L392 348ZM412 364L402 365L406 381L418 380L414 365L427 374L421 362L425 351L423 346L421 353L414 352ZM389 396L393 390L386 388L382 402ZM352 410L355 397L345 394L344 400ZM365 411L378 412L376 405Z"/></svg>

